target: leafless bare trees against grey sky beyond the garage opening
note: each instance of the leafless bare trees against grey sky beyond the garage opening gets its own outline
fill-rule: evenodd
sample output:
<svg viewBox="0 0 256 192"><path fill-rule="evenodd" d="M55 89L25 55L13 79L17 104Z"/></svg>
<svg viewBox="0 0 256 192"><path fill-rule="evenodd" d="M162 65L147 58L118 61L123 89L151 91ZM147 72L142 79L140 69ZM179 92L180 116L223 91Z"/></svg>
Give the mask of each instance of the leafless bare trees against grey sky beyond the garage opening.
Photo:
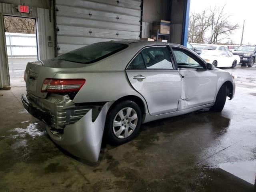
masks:
<svg viewBox="0 0 256 192"><path fill-rule="evenodd" d="M192 43L219 44L239 28L229 22L230 15L222 8L210 8L200 13L191 13L188 29L188 41Z"/></svg>

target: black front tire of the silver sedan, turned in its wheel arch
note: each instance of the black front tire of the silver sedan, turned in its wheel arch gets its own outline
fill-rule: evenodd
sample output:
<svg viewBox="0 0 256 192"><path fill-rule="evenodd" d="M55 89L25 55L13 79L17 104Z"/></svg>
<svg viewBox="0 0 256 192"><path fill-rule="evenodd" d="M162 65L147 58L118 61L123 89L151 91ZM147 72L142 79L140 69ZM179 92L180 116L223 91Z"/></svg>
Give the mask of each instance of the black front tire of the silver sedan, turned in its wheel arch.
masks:
<svg viewBox="0 0 256 192"><path fill-rule="evenodd" d="M223 110L224 105L226 103L227 95L228 95L228 88L226 85L222 85L217 94L215 104L214 106L212 106L213 111L221 112Z"/></svg>

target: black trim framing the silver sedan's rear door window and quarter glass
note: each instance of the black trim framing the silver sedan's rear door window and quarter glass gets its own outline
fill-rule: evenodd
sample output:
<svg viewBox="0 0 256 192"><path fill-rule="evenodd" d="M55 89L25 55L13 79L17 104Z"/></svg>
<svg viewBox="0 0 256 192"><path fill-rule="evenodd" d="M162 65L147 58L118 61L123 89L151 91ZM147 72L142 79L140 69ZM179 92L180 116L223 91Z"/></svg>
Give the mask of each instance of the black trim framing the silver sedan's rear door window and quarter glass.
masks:
<svg viewBox="0 0 256 192"><path fill-rule="evenodd" d="M176 68L176 64L174 63L174 60L173 60L173 56L172 56L172 52L170 51L170 49L168 48L170 45L150 45L150 46L145 46L143 48L141 48L133 57L132 59L128 62L128 64L126 65L126 68L125 70L160 70L160 71L163 71L163 70L177 70ZM169 50L169 55L170 55L170 58L171 58L171 61L172 61L172 69L148 69L146 67L146 63L145 63L145 60L144 60L144 57L142 55L142 59L144 61L144 66L146 67L146 69L128 69L128 66L130 65L130 63L134 60L134 58L140 54L142 52L142 50L146 49L146 48L150 48L150 47L166 47L168 50ZM141 53L142 54L142 53Z"/></svg>

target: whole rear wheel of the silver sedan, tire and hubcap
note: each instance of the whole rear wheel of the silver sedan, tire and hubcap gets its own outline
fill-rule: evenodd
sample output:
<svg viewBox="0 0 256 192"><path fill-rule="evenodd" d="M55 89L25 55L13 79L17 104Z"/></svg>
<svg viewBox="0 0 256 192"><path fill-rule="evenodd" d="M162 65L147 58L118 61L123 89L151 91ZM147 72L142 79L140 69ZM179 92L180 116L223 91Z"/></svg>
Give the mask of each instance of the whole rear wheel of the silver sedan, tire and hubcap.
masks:
<svg viewBox="0 0 256 192"><path fill-rule="evenodd" d="M106 119L106 137L110 144L120 145L134 139L140 130L142 114L133 101L122 101L114 106Z"/></svg>

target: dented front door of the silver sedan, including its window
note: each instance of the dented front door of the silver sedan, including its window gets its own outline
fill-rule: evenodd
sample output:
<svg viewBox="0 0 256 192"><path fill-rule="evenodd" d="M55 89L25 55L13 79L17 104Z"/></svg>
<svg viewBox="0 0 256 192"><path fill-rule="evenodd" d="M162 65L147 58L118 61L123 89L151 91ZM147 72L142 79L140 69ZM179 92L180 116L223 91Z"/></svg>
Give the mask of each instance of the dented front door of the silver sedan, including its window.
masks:
<svg viewBox="0 0 256 192"><path fill-rule="evenodd" d="M173 48L181 80L181 97L178 110L214 102L217 75L206 70L200 59L183 48Z"/></svg>

